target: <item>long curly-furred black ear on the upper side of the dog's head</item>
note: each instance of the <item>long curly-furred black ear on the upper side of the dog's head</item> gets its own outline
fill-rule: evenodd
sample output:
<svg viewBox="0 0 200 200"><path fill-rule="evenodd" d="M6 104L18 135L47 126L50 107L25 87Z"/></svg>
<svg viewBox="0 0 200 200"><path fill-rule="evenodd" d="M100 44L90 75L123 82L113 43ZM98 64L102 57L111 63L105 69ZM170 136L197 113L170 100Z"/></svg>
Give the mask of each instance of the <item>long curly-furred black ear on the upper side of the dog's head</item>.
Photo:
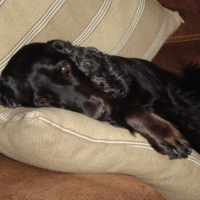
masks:
<svg viewBox="0 0 200 200"><path fill-rule="evenodd" d="M92 82L113 98L122 98L129 93L131 78L126 70L112 62L111 56L94 47L76 47L70 42L50 41L58 51L66 53Z"/></svg>

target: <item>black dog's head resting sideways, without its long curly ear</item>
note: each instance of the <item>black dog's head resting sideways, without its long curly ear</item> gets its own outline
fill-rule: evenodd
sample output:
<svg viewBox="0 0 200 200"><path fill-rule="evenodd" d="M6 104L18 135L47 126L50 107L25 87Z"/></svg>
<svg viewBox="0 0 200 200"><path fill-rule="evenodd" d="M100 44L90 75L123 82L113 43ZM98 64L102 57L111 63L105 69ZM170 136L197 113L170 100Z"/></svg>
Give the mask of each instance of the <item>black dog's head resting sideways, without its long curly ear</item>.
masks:
<svg viewBox="0 0 200 200"><path fill-rule="evenodd" d="M105 119L111 112L111 98L91 80L95 72L87 69L89 64L81 62L86 52L97 50L80 48L78 52L71 43L62 41L24 46L2 72L0 104L58 107ZM103 81L99 79L99 84Z"/></svg>

